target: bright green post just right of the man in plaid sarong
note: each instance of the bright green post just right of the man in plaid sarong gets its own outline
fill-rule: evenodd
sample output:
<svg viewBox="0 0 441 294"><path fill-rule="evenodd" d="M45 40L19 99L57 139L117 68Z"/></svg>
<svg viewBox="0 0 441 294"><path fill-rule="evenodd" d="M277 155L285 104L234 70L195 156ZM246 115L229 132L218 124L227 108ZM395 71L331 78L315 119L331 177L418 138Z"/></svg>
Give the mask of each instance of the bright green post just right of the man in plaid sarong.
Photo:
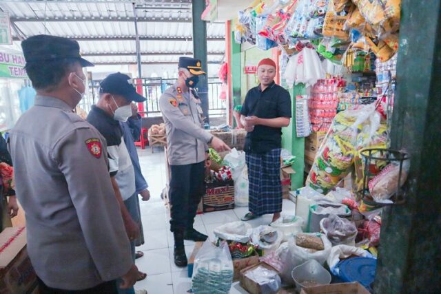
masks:
<svg viewBox="0 0 441 294"><path fill-rule="evenodd" d="M291 151L291 154L296 156L293 169L296 174L291 175L291 189L295 190L303 187L303 173L305 170L305 138L297 138L296 136L296 95L305 93L305 85L299 84L289 90L291 95L291 112L292 119L288 127L282 129L282 147Z"/></svg>

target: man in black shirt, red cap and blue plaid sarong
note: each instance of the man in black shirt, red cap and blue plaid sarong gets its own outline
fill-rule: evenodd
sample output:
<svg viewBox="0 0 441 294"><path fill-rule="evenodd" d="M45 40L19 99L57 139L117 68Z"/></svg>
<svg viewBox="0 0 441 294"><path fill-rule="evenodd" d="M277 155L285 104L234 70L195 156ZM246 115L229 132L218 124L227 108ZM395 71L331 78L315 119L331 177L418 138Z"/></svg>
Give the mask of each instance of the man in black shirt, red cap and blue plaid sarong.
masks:
<svg viewBox="0 0 441 294"><path fill-rule="evenodd" d="M280 150L282 127L291 119L291 97L274 83L276 63L263 59L257 68L260 84L245 96L240 121L247 133L245 152L249 180L249 213L242 220L282 211Z"/></svg>

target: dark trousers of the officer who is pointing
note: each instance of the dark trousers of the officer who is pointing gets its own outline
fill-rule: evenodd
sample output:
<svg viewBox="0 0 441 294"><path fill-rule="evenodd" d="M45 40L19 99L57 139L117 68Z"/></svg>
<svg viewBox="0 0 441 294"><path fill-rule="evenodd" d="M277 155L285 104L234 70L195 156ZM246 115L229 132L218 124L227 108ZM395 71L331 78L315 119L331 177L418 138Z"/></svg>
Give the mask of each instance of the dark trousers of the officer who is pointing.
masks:
<svg viewBox="0 0 441 294"><path fill-rule="evenodd" d="M170 231L184 231L193 227L196 210L205 190L205 162L170 165L170 171Z"/></svg>

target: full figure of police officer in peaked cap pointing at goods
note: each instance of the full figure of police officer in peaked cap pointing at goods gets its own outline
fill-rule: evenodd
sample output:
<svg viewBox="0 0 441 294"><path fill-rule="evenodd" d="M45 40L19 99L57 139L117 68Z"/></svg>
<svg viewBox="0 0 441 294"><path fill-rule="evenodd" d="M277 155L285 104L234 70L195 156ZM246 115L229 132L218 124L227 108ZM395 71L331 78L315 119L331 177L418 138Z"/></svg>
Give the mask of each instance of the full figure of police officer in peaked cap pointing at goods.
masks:
<svg viewBox="0 0 441 294"><path fill-rule="evenodd" d="M170 163L170 230L174 235L174 263L187 266L184 240L205 241L207 236L193 228L194 217L204 193L205 160L208 145L217 151L229 147L202 127L201 101L196 98L199 76L205 74L201 61L181 57L178 80L159 100L167 132Z"/></svg>

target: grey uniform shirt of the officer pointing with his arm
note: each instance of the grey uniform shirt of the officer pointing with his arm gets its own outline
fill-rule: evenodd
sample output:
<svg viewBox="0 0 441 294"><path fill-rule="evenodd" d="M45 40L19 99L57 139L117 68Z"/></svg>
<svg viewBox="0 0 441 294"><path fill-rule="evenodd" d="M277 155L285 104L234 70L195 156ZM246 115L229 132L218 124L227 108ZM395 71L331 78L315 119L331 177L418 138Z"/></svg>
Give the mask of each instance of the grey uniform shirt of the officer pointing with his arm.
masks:
<svg viewBox="0 0 441 294"><path fill-rule="evenodd" d="M190 165L205 160L212 134L202 128L200 101L177 84L159 99L167 132L167 155L170 165Z"/></svg>

